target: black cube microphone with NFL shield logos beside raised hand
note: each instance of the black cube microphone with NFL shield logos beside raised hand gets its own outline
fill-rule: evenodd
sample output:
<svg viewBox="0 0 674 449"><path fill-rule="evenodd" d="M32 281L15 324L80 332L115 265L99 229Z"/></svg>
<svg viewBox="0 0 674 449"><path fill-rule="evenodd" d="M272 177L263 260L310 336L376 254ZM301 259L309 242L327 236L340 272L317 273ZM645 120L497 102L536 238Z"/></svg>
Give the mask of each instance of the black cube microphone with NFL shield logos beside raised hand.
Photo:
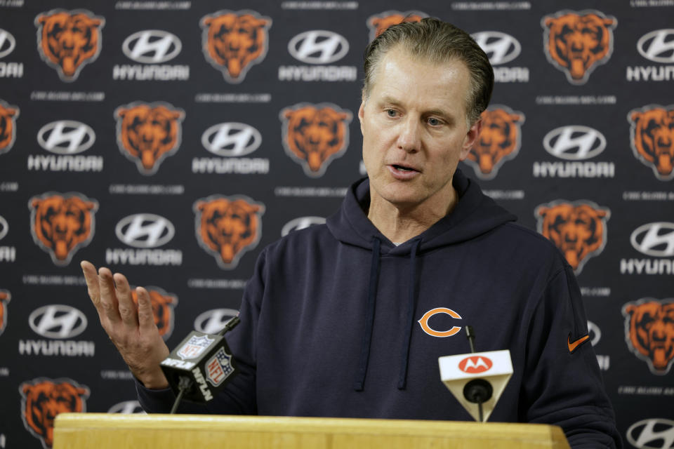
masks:
<svg viewBox="0 0 674 449"><path fill-rule="evenodd" d="M211 401L237 372L232 351L223 335L239 324L234 316L225 323L217 335L192 330L185 340L164 358L159 366L176 394L171 413L178 409L178 403L187 401L204 403Z"/></svg>

